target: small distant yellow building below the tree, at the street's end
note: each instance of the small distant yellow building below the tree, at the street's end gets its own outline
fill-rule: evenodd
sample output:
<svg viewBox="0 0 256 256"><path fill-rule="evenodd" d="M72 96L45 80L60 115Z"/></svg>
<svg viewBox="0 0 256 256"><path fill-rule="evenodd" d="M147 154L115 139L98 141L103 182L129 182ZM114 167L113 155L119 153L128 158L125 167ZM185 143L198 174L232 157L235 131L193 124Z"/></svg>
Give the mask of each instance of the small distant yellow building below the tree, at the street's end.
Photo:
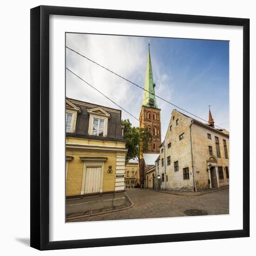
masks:
<svg viewBox="0 0 256 256"><path fill-rule="evenodd" d="M139 162L135 159L131 159L125 165L125 188L133 189L140 184L140 170Z"/></svg>

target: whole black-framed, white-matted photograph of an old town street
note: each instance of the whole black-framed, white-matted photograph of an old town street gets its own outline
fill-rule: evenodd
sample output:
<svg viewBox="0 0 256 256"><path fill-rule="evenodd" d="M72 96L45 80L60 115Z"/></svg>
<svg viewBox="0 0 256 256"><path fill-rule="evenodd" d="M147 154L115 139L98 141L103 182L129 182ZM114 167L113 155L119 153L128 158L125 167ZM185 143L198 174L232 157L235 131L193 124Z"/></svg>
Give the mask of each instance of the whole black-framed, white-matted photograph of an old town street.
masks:
<svg viewBox="0 0 256 256"><path fill-rule="evenodd" d="M249 19L31 9L31 247L249 236Z"/></svg>

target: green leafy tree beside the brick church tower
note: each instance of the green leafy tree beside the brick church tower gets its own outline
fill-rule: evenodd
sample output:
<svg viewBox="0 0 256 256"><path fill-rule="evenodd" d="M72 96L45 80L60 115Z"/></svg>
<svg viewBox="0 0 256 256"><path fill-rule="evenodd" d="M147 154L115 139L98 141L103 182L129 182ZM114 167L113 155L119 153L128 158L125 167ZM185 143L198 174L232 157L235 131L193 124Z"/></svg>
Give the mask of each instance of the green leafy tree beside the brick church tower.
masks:
<svg viewBox="0 0 256 256"><path fill-rule="evenodd" d="M124 139L126 148L128 148L126 161L128 162L132 158L140 160L140 155L148 150L148 143L153 138L149 128L132 127L129 119L121 120L121 124L124 126Z"/></svg>

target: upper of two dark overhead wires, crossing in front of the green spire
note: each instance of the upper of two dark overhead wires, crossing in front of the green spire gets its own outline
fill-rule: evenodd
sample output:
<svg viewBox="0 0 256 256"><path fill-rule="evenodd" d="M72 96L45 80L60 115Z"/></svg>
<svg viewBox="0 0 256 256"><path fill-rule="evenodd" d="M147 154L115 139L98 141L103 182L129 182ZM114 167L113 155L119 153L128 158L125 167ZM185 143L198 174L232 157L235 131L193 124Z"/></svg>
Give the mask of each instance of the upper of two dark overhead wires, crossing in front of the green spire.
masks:
<svg viewBox="0 0 256 256"><path fill-rule="evenodd" d="M102 68L104 68L104 69L108 70L110 73L115 74L115 75L117 75L117 76L121 77L121 78L122 78L122 79L124 79L125 81L128 81L129 83L131 83L131 84L133 84L133 85L137 86L138 88L141 88L142 90L144 90L144 91L146 91L146 92L148 92L148 93L150 93L150 94L152 94L152 95L155 95L155 97L157 97L157 98L161 99L162 101L165 101L165 102L167 102L167 103L171 104L171 105L172 105L172 106L174 106L175 108L179 108L179 109L181 109L182 111L184 111L184 112L188 113L189 115L193 115L193 116L195 116L196 118L199 118L199 119L201 119L202 121L205 121L205 122L207 122L207 123L208 123L208 121L207 121L207 120L205 120L205 119L201 118L200 116L194 115L194 114L192 114L191 112L189 112L189 111L187 111L187 110L185 110L185 109L183 109L183 108L178 107L177 105L173 104L172 102L167 101L167 100L163 99L162 97L160 97L160 96L158 96L158 95L156 95L156 94L153 94L153 93L149 92L149 91L148 91L148 90L146 90L145 88L143 88L143 87L141 87L141 86L139 86L139 85L135 84L134 82L132 82L132 81L130 81L130 80L128 80L128 79L126 79L125 77L121 76L120 74L115 73L114 71L112 71L112 70L108 69L107 67L104 67L104 66L102 66L101 64L99 64L99 63L97 63L97 62L95 62L95 61L93 61L93 60L89 59L88 57L86 57L86 56L84 56L84 55L82 55L82 54L78 53L77 51L75 51L75 50L71 49L70 47L67 47L67 46L66 46L66 48L67 48L67 49L69 49L70 51L73 51L74 53L76 53L76 54L80 55L81 57L83 57L83 58L87 59L88 61L93 62L94 64L98 65L99 67L102 67ZM215 126L216 126L216 127L218 127L218 128L220 128L220 129L222 129L221 127L219 127L219 126L217 126L217 125L215 125Z"/></svg>

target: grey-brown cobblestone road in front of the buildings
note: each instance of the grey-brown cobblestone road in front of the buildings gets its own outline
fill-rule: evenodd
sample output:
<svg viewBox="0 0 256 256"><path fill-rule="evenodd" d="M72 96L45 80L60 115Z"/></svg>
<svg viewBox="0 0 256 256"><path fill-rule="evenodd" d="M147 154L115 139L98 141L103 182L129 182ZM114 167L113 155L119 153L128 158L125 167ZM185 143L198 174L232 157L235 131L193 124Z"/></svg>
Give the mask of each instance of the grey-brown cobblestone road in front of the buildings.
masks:
<svg viewBox="0 0 256 256"><path fill-rule="evenodd" d="M183 211L187 209L205 210L209 215L229 213L229 189L197 196L171 195L151 189L129 189L126 194L134 203L132 208L76 221L177 217L186 216Z"/></svg>

